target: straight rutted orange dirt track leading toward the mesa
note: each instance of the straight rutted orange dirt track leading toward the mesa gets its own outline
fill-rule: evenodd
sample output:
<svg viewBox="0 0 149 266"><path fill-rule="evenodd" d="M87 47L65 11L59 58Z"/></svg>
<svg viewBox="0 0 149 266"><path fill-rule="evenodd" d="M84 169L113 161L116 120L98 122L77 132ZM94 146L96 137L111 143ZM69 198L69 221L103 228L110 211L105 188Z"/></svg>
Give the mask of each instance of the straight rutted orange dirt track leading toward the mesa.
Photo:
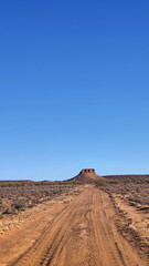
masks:
<svg viewBox="0 0 149 266"><path fill-rule="evenodd" d="M117 232L108 195L86 187L11 266L147 266Z"/></svg>

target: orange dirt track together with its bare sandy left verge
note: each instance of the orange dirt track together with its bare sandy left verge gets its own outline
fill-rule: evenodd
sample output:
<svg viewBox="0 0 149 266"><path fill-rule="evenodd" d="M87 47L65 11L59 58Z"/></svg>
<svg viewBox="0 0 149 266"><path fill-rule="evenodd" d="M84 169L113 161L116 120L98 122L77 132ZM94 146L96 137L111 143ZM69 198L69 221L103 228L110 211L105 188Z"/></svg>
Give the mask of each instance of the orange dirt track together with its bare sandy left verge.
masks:
<svg viewBox="0 0 149 266"><path fill-rule="evenodd" d="M117 231L107 193L85 186L71 200L41 206L1 234L1 266L148 265Z"/></svg>

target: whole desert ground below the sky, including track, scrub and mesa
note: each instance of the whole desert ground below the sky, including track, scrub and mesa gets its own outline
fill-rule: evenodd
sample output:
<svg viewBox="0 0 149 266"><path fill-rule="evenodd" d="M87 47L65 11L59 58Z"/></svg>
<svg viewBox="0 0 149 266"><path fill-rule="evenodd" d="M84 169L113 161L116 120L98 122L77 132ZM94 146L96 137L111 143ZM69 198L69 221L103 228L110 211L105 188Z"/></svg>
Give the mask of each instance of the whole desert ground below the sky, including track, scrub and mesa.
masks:
<svg viewBox="0 0 149 266"><path fill-rule="evenodd" d="M147 266L149 176L0 182L1 266Z"/></svg>

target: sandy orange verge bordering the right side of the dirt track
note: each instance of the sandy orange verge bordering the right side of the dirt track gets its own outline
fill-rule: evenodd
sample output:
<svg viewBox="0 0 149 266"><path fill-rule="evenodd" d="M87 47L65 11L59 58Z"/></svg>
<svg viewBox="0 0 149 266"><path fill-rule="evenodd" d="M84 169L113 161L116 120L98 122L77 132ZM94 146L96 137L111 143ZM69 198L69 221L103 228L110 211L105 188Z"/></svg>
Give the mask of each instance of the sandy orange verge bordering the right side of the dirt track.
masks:
<svg viewBox="0 0 149 266"><path fill-rule="evenodd" d="M149 212L146 207L131 206L120 195L111 196L116 213L116 224L125 238L143 256L149 258Z"/></svg>

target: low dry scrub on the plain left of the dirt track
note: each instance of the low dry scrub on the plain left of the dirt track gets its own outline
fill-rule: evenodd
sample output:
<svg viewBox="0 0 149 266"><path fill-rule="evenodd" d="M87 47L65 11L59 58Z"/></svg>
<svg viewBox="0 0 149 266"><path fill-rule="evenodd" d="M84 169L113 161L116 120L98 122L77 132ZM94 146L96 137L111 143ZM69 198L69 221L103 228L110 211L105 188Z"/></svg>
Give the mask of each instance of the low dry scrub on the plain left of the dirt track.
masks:
<svg viewBox="0 0 149 266"><path fill-rule="evenodd" d="M35 182L31 184L22 183L18 185L15 182L10 182L8 186L0 187L0 215L18 214L25 208L33 207L39 203L51 201L61 194L67 194L74 184L62 182Z"/></svg>

